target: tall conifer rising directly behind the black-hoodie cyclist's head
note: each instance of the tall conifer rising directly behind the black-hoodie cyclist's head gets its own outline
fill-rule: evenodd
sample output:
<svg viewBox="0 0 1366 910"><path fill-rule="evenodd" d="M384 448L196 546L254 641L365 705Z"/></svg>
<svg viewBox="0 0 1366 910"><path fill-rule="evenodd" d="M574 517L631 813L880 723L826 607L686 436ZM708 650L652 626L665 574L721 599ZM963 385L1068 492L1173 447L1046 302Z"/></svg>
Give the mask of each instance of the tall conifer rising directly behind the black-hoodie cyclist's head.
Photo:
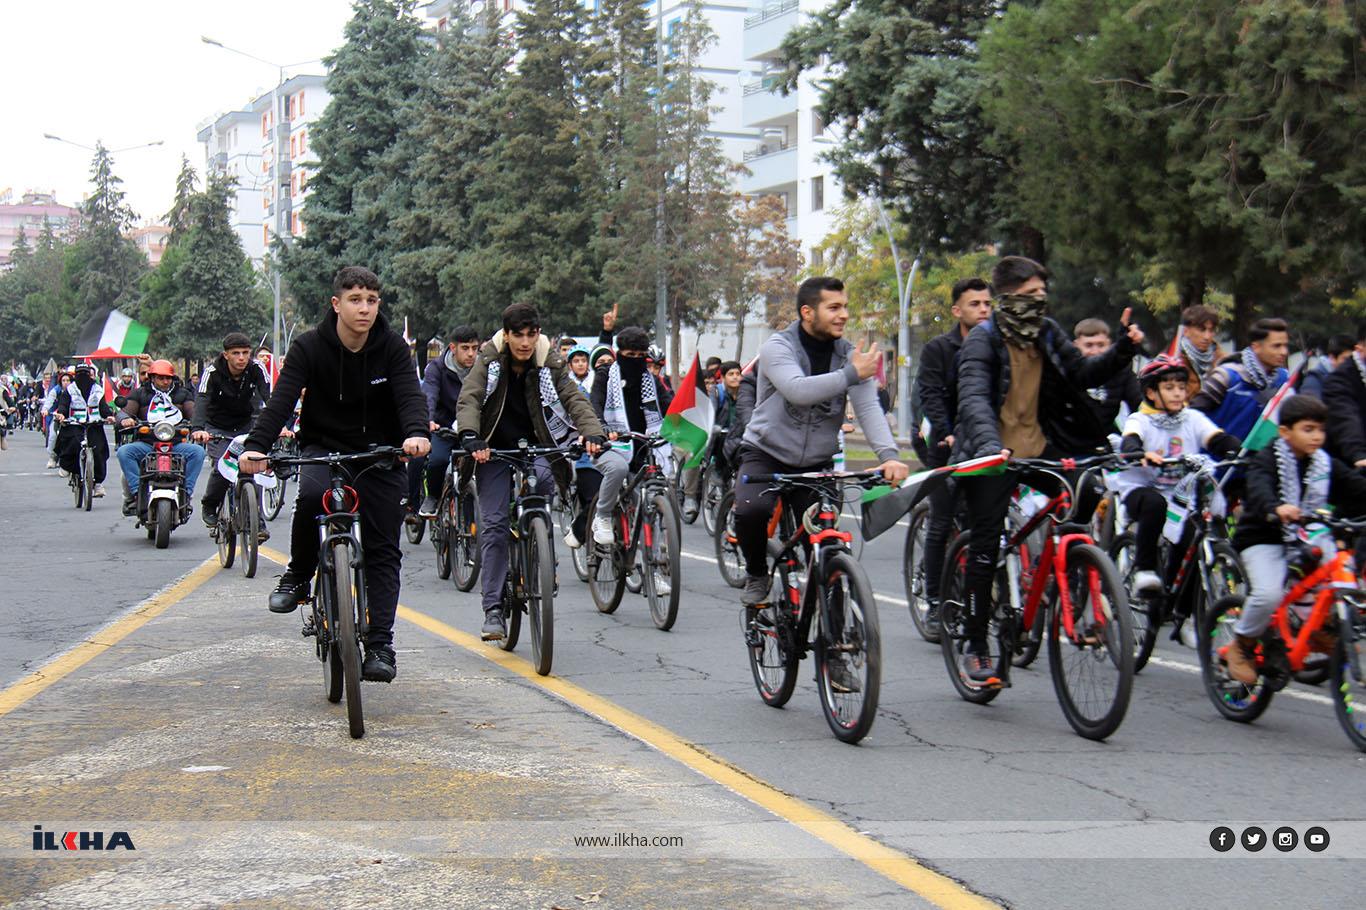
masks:
<svg viewBox="0 0 1366 910"><path fill-rule="evenodd" d="M343 265L388 272L393 251L382 235L395 208L381 197L406 168L381 168L422 89L430 42L414 16L415 0L357 0L346 41L324 64L332 101L313 127L317 161L309 167L306 232L292 245L276 240L290 294L306 316L318 316ZM393 164L391 158L389 164Z"/></svg>

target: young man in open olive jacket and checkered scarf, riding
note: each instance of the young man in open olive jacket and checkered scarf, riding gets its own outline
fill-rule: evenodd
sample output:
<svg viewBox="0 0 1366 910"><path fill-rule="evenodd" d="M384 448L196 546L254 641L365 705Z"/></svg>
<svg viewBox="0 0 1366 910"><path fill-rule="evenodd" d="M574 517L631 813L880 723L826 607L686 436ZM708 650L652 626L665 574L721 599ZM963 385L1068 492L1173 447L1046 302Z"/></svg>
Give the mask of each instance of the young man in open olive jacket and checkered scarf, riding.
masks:
<svg viewBox="0 0 1366 910"><path fill-rule="evenodd" d="M490 448L567 445L583 439L608 482L620 486L626 459L604 451L607 437L597 414L550 340L541 335L541 316L530 303L514 303L503 312L503 331L479 350L464 378L456 407L460 444L475 460L479 493L479 588L484 598L484 641L507 638L503 615L503 583L508 574L508 504L512 497L512 466L493 459ZM537 458L537 488L550 489L549 459ZM553 466L567 486L570 465ZM609 480L612 478L612 480ZM609 529L611 530L611 526Z"/></svg>

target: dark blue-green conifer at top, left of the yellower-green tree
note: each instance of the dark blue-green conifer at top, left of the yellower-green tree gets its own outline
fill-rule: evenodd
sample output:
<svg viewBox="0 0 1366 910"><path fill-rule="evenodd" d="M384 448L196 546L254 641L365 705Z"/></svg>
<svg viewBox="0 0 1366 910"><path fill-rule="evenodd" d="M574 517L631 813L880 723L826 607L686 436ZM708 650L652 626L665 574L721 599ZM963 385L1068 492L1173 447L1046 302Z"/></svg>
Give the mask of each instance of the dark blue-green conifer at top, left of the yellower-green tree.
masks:
<svg viewBox="0 0 1366 910"><path fill-rule="evenodd" d="M1003 160L982 119L977 48L1003 0L836 0L783 41L784 85L829 60L820 113L844 142L826 157L850 190L887 201L926 249L966 249L1014 223L996 205Z"/></svg>

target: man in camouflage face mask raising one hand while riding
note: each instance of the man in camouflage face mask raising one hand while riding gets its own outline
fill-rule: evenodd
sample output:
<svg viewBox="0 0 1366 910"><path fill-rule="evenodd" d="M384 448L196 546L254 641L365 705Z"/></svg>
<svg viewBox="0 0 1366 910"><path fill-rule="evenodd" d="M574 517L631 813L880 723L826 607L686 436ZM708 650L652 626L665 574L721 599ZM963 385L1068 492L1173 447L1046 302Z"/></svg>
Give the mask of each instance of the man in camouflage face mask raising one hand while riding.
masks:
<svg viewBox="0 0 1366 910"><path fill-rule="evenodd" d="M997 295L992 318L968 332L959 353L953 460L996 454L1082 456L1094 454L1094 441L1105 437L1085 389L1127 369L1143 332L1130 324L1126 309L1116 343L1096 357L1083 357L1048 317L1048 269L1020 256L1003 258L992 271ZM971 686L1000 682L988 659L986 624L1001 525L1018 481L1018 473L1007 470L964 477L959 484L971 515L967 642L959 674ZM1030 485L1035 484L1052 495L1046 481L1030 478ZM1079 503L1076 521L1087 521L1097 501L1098 495L1090 495Z"/></svg>

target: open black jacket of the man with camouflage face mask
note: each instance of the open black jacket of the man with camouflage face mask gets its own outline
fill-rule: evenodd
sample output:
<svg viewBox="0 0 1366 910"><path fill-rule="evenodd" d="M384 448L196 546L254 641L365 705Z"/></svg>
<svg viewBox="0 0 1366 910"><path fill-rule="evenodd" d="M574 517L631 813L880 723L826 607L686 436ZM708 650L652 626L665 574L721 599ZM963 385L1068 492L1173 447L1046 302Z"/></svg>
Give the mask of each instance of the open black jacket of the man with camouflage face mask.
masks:
<svg viewBox="0 0 1366 910"><path fill-rule="evenodd" d="M1042 354L1038 424L1044 439L1064 455L1104 447L1108 430L1096 419L1085 389L1126 369L1138 346L1128 335L1096 357L1082 357L1055 320L1045 318L1035 342ZM1001 451L1000 411L1011 388L1011 358L994 320L968 332L958 353L958 417L955 460Z"/></svg>

